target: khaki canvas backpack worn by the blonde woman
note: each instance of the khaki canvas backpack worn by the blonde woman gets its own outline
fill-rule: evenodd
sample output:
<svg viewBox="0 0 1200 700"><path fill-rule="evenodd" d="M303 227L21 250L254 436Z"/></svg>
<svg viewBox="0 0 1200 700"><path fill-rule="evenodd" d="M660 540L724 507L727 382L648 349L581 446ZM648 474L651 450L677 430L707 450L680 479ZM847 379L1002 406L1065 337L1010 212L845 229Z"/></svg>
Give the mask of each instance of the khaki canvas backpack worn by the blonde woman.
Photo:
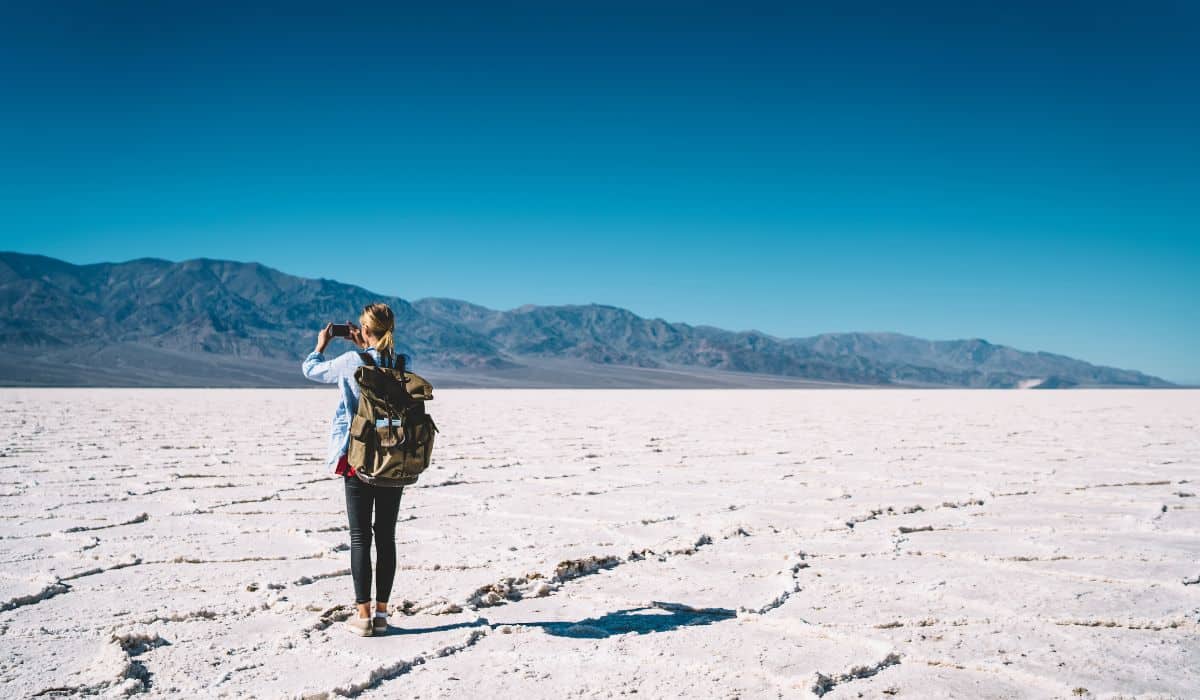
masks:
<svg viewBox="0 0 1200 700"><path fill-rule="evenodd" d="M438 431L425 402L433 387L404 369L403 355L379 366L367 353L354 371L361 389L359 408L350 420L350 447L346 460L359 479L377 486L407 486L430 466L433 435Z"/></svg>

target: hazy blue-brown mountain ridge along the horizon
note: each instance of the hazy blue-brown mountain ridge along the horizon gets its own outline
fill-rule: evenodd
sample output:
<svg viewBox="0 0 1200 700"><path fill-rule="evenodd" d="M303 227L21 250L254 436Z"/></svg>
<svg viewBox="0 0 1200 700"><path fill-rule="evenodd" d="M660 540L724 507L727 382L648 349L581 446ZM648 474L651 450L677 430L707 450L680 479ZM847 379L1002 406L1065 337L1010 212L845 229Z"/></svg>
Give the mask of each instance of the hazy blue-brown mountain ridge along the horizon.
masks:
<svg viewBox="0 0 1200 700"><path fill-rule="evenodd" d="M409 303L258 263L74 265L12 252L0 253L0 384L302 385L299 363L317 329L377 300L396 312L401 349L442 385L1171 385L979 339L779 339L595 304L497 311L454 299Z"/></svg>

